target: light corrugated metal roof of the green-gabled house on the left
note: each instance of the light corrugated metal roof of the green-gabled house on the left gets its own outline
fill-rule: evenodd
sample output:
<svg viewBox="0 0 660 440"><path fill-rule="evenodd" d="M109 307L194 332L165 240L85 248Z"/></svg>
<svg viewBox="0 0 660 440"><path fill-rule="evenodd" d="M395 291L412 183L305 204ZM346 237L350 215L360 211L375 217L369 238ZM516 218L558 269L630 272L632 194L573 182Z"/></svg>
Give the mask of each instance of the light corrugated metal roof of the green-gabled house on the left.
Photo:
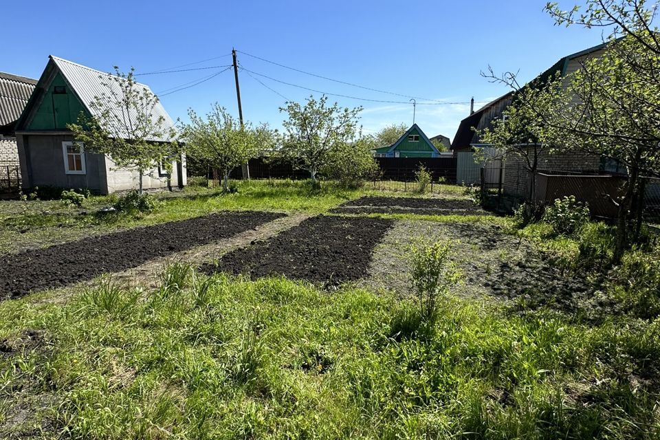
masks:
<svg viewBox="0 0 660 440"><path fill-rule="evenodd" d="M99 112L94 109L94 106L91 106L91 103L96 100L96 97L102 96L113 96L121 95L122 91L117 82L118 77L104 72L100 72L95 69L90 69L89 67L80 65L78 63L73 63L72 61L67 61L63 58L58 58L57 56L50 56L55 65L60 69L64 75L67 83L74 89L78 98L83 102L83 105L89 110L94 116L98 116ZM139 87L143 87L148 90L150 93L151 89L147 85L135 83ZM120 120L123 118L121 109L115 109L115 116ZM131 115L135 118L135 113ZM159 118L163 118L164 122L162 124L163 131L168 131L169 129L175 129L175 124L170 115L167 114L164 107L158 101L153 107L151 112L151 118L153 122L156 122ZM118 131L121 131L118 129ZM121 133L120 133L121 135ZM127 133L123 133L122 137L129 137ZM170 142L173 140L168 136L164 136L157 139L151 139L159 142Z"/></svg>

